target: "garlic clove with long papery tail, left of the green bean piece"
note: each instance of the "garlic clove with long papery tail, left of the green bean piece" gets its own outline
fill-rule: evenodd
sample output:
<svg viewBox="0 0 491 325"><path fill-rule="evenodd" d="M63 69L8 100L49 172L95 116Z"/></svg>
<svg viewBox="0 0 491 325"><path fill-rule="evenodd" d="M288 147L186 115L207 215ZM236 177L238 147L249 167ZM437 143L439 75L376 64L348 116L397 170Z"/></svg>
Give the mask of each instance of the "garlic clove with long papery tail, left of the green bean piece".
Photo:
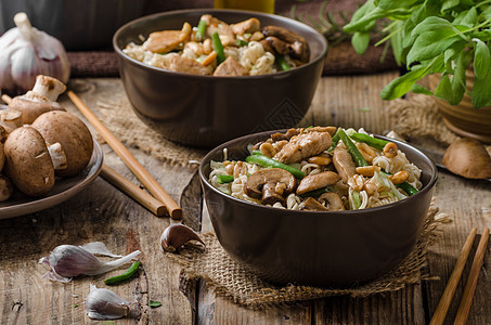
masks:
<svg viewBox="0 0 491 325"><path fill-rule="evenodd" d="M119 257L119 259L103 262L94 253ZM47 272L42 278L69 282L72 277L78 275L98 275L109 272L131 261L140 253L140 250L135 250L125 257L116 256L111 253L105 245L100 242L83 246L60 245L49 256L41 258L39 263L51 268L51 271Z"/></svg>

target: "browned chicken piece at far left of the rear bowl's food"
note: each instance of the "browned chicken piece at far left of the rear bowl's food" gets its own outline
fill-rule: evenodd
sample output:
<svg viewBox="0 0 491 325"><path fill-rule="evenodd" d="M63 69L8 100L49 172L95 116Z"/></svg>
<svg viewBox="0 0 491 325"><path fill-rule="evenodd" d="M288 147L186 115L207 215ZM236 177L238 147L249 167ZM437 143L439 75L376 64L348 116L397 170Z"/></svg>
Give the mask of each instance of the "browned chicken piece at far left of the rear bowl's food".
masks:
<svg viewBox="0 0 491 325"><path fill-rule="evenodd" d="M190 38L191 31L192 28L189 23L184 23L181 30L154 31L143 43L143 49L154 53L168 53L185 42Z"/></svg>

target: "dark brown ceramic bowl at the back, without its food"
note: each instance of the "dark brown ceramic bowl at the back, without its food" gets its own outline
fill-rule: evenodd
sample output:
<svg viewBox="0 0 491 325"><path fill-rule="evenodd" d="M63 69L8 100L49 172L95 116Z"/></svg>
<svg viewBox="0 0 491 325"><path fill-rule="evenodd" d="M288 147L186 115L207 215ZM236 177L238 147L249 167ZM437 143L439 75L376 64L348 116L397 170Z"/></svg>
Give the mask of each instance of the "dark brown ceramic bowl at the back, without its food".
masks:
<svg viewBox="0 0 491 325"><path fill-rule="evenodd" d="M122 53L129 42L142 43L155 30L196 26L209 13L227 23L257 17L303 36L311 49L301 67L264 76L194 76L148 66ZM165 138L211 148L224 141L298 123L312 101L327 54L325 38L286 17L237 10L183 10L145 16L118 29L113 39L119 73L137 115Z"/></svg>

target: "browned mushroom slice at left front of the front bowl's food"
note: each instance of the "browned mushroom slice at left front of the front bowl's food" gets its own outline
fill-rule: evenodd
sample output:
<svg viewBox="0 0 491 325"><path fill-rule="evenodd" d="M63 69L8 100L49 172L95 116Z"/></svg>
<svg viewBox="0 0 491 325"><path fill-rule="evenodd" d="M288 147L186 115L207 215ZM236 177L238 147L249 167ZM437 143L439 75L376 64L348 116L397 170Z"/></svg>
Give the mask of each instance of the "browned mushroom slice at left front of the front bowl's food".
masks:
<svg viewBox="0 0 491 325"><path fill-rule="evenodd" d="M292 193L296 185L297 181L290 172L281 168L267 168L248 177L244 191L248 196L261 199L264 205L276 202L283 205L284 196Z"/></svg>

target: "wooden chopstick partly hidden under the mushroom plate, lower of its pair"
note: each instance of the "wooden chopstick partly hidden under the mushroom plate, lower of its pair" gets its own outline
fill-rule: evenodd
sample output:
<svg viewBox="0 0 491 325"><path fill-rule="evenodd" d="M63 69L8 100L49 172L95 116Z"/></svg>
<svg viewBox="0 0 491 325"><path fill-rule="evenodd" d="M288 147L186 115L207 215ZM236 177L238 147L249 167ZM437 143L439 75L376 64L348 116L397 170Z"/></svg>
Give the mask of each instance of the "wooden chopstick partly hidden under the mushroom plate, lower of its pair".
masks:
<svg viewBox="0 0 491 325"><path fill-rule="evenodd" d="M160 203L158 199L156 199L139 186L131 183L129 180L125 179L121 174L117 173L107 165L102 165L101 177L119 188L121 192L128 194L155 216L160 217L166 213L166 207L163 203Z"/></svg>

